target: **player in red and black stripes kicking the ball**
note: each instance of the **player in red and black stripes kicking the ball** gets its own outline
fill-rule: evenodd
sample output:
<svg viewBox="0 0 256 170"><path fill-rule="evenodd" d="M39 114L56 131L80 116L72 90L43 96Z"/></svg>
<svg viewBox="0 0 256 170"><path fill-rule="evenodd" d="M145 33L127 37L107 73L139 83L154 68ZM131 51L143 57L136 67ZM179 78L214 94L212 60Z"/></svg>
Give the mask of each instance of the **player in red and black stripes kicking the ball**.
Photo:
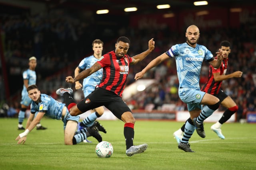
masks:
<svg viewBox="0 0 256 170"><path fill-rule="evenodd" d="M128 78L129 65L142 61L154 50L154 44L155 42L153 39L150 39L148 41L148 50L135 55L134 57L129 57L127 51L130 47L130 40L127 37L119 37L116 41L116 49L114 51L110 51L103 55L91 68L80 72L75 78L72 78L72 76L66 77L66 82L74 83L90 76L100 68L103 68L103 78L91 94L86 96L78 104L75 104L74 99L69 93L69 89L60 88L56 91L56 94L64 97L70 115L80 115L90 109L105 106L118 119L124 121L124 137L126 141L127 156L144 152L148 145L133 145L135 119L130 108L122 100L122 93Z"/></svg>

